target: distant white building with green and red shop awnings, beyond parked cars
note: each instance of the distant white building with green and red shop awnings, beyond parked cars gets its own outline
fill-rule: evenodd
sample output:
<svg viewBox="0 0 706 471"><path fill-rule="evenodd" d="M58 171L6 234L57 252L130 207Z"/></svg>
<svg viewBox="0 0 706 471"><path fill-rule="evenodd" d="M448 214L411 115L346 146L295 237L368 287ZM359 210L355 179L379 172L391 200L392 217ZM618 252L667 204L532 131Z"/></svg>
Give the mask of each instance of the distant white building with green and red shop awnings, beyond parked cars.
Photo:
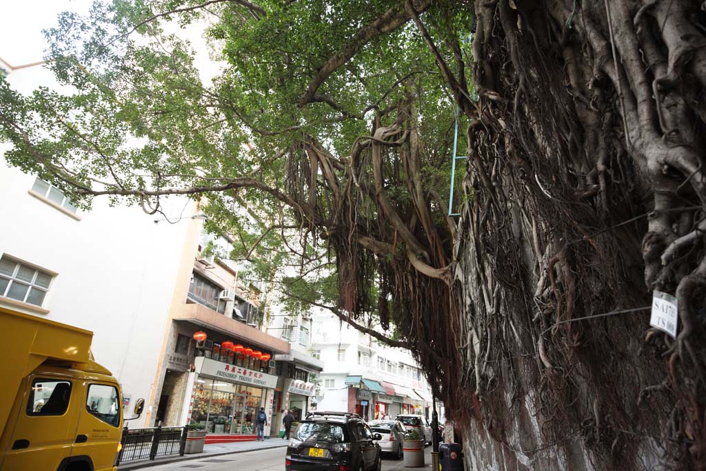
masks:
<svg viewBox="0 0 706 471"><path fill-rule="evenodd" d="M402 413L431 419L431 389L409 350L383 345L326 311L314 314L311 331L313 357L324 363L319 410L357 412L366 419Z"/></svg>

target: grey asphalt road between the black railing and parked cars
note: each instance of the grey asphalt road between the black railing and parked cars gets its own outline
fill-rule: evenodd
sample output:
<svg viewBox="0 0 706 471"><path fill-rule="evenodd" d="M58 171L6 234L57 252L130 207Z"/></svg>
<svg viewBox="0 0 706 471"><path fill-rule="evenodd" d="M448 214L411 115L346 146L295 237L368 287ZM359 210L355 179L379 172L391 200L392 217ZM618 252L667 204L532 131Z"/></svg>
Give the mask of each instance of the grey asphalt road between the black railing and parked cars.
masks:
<svg viewBox="0 0 706 471"><path fill-rule="evenodd" d="M152 466L145 471L285 471L285 453L287 448L249 451L232 455L214 456L201 460L188 460L169 465ZM431 446L424 449L424 467L410 468L402 465L402 460L395 460L383 455L383 471L414 471L431 469Z"/></svg>

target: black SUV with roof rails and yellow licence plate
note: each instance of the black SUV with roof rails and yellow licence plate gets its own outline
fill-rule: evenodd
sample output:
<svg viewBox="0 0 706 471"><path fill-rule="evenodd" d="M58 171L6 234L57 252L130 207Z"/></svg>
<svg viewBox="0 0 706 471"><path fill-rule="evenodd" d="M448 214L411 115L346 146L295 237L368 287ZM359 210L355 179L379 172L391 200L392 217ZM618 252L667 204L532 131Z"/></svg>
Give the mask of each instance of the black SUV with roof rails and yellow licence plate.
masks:
<svg viewBox="0 0 706 471"><path fill-rule="evenodd" d="M357 414L312 412L292 433L287 471L380 471L381 440Z"/></svg>

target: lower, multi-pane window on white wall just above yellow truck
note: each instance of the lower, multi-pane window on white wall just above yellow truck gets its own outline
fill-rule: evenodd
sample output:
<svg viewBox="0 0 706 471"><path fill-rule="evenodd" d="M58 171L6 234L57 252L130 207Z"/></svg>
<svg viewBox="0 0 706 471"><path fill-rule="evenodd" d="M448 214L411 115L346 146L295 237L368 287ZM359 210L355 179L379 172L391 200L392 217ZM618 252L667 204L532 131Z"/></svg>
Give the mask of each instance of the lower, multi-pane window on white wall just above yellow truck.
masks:
<svg viewBox="0 0 706 471"><path fill-rule="evenodd" d="M0 296L42 306L53 276L8 256L0 258Z"/></svg>

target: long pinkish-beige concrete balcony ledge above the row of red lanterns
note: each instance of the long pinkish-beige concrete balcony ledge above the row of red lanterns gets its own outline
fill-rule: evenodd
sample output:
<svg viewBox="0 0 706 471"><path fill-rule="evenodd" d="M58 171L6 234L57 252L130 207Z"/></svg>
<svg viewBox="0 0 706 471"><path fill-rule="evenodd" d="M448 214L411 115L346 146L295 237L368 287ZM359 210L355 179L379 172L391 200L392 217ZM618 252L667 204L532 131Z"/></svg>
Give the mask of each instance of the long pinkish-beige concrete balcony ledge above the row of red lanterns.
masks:
<svg viewBox="0 0 706 471"><path fill-rule="evenodd" d="M174 321L190 322L197 326L217 330L228 337L232 337L232 340L246 340L251 345L257 345L271 352L289 353L291 350L289 343L284 340L275 338L251 326L246 326L246 324L240 321L226 317L201 304L181 304L177 312L172 316L172 319Z"/></svg>

